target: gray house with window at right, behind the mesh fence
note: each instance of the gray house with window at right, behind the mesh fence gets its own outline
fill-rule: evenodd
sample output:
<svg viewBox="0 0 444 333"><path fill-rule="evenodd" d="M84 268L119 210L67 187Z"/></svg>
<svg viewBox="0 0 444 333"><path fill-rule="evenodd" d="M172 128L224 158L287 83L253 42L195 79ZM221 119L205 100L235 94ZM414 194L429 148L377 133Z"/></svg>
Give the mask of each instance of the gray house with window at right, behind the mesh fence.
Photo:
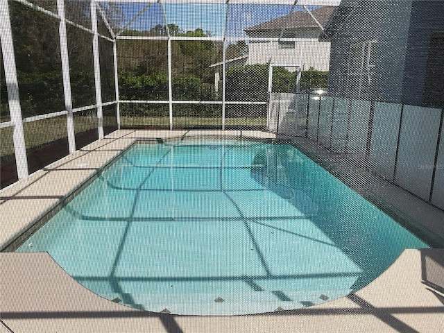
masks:
<svg viewBox="0 0 444 333"><path fill-rule="evenodd" d="M320 40L330 94L444 106L443 0L343 0Z"/></svg>

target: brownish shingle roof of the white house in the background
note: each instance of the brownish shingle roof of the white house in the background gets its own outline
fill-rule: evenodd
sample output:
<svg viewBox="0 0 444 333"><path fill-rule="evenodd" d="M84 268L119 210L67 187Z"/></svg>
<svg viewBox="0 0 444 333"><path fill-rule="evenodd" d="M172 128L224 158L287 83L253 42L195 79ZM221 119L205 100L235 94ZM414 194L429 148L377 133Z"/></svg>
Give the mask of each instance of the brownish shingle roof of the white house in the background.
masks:
<svg viewBox="0 0 444 333"><path fill-rule="evenodd" d="M311 10L311 14L316 17L318 22L325 26L330 15L336 7L334 6L323 6ZM278 17L277 19L272 19L270 21L257 24L256 26L250 26L245 29L248 34L253 31L279 31L282 28L286 29L300 29L300 28L319 28L316 21L311 17L309 12L303 10L298 12L291 12L289 15Z"/></svg>

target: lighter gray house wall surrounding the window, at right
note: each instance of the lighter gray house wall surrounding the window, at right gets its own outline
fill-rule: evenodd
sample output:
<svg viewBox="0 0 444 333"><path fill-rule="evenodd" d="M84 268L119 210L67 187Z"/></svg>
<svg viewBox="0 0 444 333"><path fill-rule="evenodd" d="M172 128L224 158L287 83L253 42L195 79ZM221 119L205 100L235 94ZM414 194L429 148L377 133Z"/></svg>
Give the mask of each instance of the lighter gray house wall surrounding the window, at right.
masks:
<svg viewBox="0 0 444 333"><path fill-rule="evenodd" d="M335 96L349 96L347 74L350 46L359 42L377 40L373 89L370 89L370 94L364 94L361 98L400 102L411 1L345 0L341 5L355 6L355 10L332 39L330 92Z"/></svg>

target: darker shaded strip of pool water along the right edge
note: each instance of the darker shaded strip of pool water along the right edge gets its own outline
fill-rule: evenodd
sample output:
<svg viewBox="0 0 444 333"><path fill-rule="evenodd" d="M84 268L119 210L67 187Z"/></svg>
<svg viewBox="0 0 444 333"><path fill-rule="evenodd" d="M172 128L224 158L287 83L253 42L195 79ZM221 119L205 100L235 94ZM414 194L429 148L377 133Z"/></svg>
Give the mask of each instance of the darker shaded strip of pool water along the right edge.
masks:
<svg viewBox="0 0 444 333"><path fill-rule="evenodd" d="M363 273L353 290L374 280L404 250L427 248L391 217L289 145L274 145L256 155L259 182L287 198L320 228Z"/></svg>

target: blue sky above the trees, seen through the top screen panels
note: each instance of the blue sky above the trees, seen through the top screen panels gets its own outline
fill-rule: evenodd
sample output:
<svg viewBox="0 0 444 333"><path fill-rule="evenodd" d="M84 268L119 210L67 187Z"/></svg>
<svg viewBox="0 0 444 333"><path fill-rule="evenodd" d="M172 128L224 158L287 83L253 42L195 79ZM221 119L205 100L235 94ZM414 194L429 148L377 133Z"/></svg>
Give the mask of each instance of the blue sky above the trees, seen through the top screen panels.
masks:
<svg viewBox="0 0 444 333"><path fill-rule="evenodd" d="M133 5L135 6L133 8L123 8L128 21L146 6L143 3L133 3ZM215 37L223 35L225 4L165 3L164 8L168 23L176 24L182 31L202 28L203 31L210 31ZM228 12L227 36L246 37L245 28L287 15L290 10L291 6L285 5L232 4ZM297 7L296 10L302 10L302 7ZM129 28L144 31L157 24L165 25L160 3L154 3Z"/></svg>

